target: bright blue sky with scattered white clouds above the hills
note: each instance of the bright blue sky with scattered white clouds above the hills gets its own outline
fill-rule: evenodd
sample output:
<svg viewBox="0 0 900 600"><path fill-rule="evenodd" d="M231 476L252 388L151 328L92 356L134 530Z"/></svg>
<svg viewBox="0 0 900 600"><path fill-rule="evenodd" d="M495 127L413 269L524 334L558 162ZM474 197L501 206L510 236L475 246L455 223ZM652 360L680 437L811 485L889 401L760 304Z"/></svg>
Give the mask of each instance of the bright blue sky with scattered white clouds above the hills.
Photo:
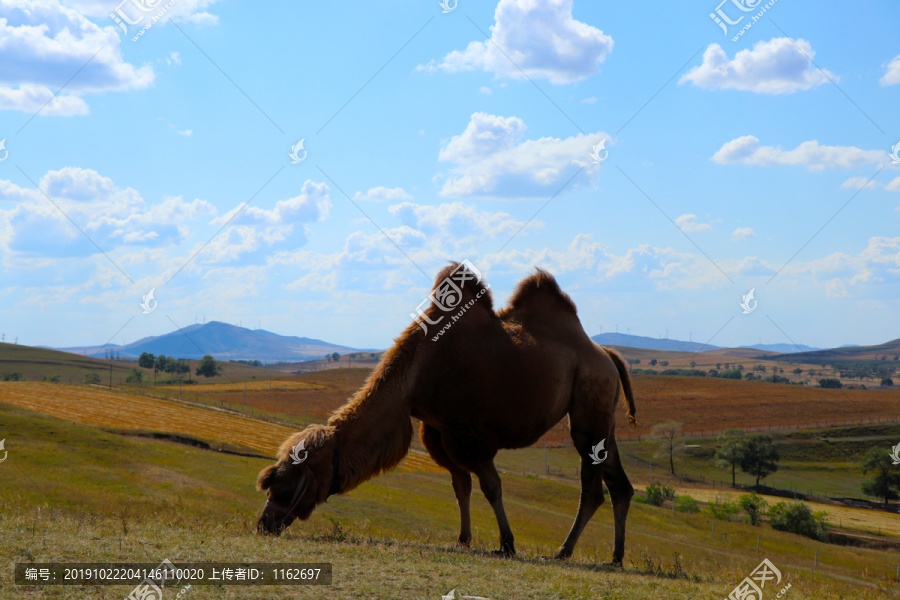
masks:
<svg viewBox="0 0 900 600"><path fill-rule="evenodd" d="M900 337L896 3L139 5L0 0L7 341L381 348L464 258L591 335Z"/></svg>

